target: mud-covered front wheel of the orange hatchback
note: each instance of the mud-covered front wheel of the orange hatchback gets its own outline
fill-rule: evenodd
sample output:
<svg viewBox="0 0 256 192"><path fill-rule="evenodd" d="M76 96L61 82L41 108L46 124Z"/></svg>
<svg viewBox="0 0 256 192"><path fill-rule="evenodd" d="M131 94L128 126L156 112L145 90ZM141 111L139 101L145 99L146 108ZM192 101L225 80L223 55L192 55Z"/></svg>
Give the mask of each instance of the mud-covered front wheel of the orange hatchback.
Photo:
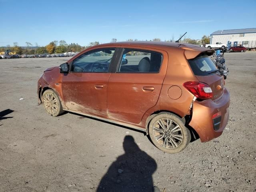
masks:
<svg viewBox="0 0 256 192"><path fill-rule="evenodd" d="M51 116L58 116L64 112L58 94L52 89L47 89L42 95L44 109Z"/></svg>

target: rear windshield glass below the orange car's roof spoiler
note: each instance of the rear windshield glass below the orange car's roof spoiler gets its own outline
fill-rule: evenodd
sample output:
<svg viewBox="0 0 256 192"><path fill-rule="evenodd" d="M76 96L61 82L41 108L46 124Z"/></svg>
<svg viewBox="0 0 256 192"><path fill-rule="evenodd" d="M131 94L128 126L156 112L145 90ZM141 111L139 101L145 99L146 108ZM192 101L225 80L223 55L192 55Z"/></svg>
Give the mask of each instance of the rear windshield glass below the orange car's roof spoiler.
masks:
<svg viewBox="0 0 256 192"><path fill-rule="evenodd" d="M190 67L195 75L207 76L210 72L216 70L215 64L206 54L200 54L194 59L188 60Z"/></svg>

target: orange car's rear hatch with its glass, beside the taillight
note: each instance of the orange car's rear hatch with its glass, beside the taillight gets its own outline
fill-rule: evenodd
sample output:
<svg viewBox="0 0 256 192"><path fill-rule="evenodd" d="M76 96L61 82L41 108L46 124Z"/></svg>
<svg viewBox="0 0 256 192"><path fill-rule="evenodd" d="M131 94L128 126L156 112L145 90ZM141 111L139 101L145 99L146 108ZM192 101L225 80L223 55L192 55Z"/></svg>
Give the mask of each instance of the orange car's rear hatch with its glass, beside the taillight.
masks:
<svg viewBox="0 0 256 192"><path fill-rule="evenodd" d="M215 64L206 53L188 60L196 78L212 89L212 100L217 100L223 94L224 77L217 71Z"/></svg>

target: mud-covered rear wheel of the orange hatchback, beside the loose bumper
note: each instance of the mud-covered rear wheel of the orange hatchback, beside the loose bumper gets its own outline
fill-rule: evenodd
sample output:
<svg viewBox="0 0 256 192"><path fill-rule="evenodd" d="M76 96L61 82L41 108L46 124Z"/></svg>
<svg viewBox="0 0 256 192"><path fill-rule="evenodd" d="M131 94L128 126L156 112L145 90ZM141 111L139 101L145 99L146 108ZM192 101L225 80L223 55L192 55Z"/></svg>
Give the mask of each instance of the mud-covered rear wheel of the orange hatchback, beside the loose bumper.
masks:
<svg viewBox="0 0 256 192"><path fill-rule="evenodd" d="M166 127L162 128L160 124ZM170 126L167 126L168 124ZM169 112L162 112L154 116L149 123L148 132L153 144L166 153L181 152L191 140L190 131L186 128L184 121ZM173 134L174 132L178 134Z"/></svg>

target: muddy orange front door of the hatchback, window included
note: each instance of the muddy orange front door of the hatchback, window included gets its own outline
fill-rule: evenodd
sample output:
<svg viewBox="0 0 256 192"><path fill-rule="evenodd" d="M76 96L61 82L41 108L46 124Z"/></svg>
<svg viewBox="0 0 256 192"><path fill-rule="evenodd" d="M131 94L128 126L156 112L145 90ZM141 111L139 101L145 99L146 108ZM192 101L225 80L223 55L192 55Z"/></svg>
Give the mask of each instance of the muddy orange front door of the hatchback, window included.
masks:
<svg viewBox="0 0 256 192"><path fill-rule="evenodd" d="M72 61L62 78L62 96L69 110L106 117L110 65L115 48L85 52Z"/></svg>

